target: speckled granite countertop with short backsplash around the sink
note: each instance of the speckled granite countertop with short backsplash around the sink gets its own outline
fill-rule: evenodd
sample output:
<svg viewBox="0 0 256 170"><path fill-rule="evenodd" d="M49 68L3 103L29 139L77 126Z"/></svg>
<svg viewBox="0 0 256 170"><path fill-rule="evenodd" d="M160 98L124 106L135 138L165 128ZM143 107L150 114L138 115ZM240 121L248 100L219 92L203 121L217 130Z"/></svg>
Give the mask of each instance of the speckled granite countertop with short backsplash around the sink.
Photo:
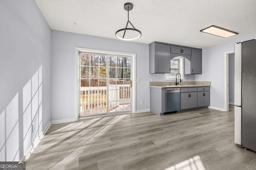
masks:
<svg viewBox="0 0 256 170"><path fill-rule="evenodd" d="M179 82L180 83L180 82ZM211 86L211 82L182 82L175 85L175 82L150 82L149 87L153 88L177 88L177 87L207 87Z"/></svg>

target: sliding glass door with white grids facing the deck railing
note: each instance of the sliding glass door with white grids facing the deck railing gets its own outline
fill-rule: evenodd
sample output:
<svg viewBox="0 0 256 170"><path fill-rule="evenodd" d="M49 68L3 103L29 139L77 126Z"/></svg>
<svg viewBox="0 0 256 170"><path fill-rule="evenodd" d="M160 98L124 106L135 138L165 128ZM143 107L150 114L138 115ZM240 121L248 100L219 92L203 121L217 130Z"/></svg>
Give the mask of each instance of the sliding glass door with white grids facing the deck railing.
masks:
<svg viewBox="0 0 256 170"><path fill-rule="evenodd" d="M80 117L131 111L132 58L80 52Z"/></svg>

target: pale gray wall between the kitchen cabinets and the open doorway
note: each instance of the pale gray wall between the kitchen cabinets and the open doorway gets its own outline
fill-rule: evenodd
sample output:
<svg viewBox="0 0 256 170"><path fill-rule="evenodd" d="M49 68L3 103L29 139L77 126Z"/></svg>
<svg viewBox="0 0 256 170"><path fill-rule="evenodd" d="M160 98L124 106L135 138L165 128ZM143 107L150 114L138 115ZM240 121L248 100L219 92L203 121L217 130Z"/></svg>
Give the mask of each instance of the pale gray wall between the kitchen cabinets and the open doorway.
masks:
<svg viewBox="0 0 256 170"><path fill-rule="evenodd" d="M210 106L224 110L224 53L234 51L236 42L255 38L256 34L202 49L202 74L195 75L195 81L211 81Z"/></svg>

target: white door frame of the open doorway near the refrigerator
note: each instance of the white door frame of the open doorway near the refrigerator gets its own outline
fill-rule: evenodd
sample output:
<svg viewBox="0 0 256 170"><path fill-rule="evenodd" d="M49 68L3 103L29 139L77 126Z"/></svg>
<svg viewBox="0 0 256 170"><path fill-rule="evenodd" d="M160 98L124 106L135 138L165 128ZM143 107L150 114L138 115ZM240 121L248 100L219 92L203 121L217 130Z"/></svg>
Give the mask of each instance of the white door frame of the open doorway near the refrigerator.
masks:
<svg viewBox="0 0 256 170"><path fill-rule="evenodd" d="M228 90L228 55L235 53L235 51L227 51L224 53L224 111L228 111L228 95L229 95L229 90Z"/></svg>

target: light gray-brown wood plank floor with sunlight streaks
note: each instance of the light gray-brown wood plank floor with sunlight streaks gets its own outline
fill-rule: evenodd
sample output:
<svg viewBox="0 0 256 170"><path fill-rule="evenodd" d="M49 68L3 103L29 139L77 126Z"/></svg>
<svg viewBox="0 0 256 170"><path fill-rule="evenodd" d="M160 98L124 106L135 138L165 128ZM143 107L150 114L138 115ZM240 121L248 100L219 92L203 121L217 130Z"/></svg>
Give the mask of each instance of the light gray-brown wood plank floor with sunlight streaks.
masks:
<svg viewBox="0 0 256 170"><path fill-rule="evenodd" d="M27 170L255 170L256 152L234 144L234 107L150 112L52 125Z"/></svg>

